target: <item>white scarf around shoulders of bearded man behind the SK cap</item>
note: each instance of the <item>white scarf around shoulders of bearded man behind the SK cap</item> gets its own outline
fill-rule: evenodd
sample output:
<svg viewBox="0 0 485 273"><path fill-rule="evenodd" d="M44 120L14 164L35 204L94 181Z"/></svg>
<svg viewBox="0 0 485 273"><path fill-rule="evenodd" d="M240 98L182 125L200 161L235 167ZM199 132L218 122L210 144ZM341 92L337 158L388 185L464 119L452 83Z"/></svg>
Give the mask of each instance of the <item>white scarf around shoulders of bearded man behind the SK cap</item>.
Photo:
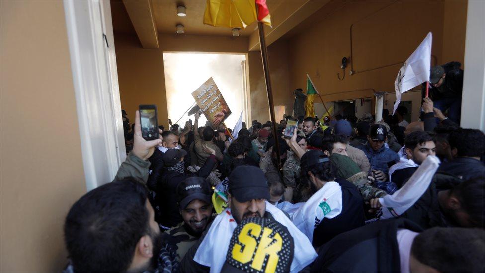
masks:
<svg viewBox="0 0 485 273"><path fill-rule="evenodd" d="M277 222L285 226L293 237L295 249L290 271L298 272L312 263L317 258L317 253L308 238L293 225L280 209L266 202L266 213L268 212ZM210 272L221 272L236 227L237 224L231 215L231 210L226 208L212 222L209 231L195 253L194 261L210 267Z"/></svg>

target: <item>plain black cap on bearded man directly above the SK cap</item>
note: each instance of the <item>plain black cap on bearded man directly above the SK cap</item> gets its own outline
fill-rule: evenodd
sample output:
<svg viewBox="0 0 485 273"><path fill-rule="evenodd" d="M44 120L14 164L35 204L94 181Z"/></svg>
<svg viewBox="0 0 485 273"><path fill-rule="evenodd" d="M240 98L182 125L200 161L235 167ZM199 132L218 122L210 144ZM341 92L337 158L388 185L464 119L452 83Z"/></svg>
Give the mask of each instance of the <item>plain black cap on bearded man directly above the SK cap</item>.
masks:
<svg viewBox="0 0 485 273"><path fill-rule="evenodd" d="M252 199L271 199L263 171L255 166L236 167L229 175L229 193L240 203Z"/></svg>

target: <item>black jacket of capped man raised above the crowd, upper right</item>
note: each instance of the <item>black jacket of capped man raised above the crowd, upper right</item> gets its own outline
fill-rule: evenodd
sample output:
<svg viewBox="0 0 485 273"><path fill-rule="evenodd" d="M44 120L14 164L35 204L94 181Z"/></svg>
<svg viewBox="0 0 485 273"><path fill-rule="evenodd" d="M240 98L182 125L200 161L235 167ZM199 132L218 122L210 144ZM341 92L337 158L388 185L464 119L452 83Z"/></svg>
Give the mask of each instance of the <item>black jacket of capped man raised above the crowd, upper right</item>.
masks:
<svg viewBox="0 0 485 273"><path fill-rule="evenodd" d="M440 100L443 98L461 98L463 89L463 70L460 68L461 63L449 62L442 67L445 69L444 83L439 87L430 86L428 88L431 100ZM421 85L421 95L426 96L426 82Z"/></svg>

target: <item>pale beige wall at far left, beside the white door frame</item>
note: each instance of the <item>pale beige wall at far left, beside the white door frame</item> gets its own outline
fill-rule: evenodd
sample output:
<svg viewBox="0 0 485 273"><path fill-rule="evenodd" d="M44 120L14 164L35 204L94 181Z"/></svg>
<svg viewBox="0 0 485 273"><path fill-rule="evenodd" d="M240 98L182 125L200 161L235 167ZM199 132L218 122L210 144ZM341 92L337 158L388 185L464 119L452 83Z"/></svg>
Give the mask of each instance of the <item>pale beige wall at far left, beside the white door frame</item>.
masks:
<svg viewBox="0 0 485 273"><path fill-rule="evenodd" d="M0 271L59 272L86 191L62 1L0 1Z"/></svg>

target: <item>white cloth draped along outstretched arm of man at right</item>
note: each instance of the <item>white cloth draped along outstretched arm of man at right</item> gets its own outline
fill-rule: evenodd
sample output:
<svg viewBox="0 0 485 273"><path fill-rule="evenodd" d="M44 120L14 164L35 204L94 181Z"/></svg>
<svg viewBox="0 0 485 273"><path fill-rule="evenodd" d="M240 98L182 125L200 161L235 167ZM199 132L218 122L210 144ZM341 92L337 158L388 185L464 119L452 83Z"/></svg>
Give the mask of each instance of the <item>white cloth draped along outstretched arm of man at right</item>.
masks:
<svg viewBox="0 0 485 273"><path fill-rule="evenodd" d="M380 219L398 217L423 195L440 164L436 156L428 156L402 188L393 195L379 198L382 205Z"/></svg>

